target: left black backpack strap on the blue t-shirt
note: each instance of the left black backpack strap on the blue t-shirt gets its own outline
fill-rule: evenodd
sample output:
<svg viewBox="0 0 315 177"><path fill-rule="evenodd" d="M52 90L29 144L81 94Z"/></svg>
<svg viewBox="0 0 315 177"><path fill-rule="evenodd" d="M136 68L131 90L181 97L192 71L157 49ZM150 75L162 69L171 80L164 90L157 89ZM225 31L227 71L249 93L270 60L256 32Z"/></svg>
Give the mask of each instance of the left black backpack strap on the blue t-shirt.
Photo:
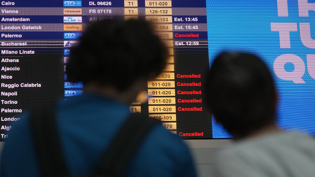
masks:
<svg viewBox="0 0 315 177"><path fill-rule="evenodd" d="M58 137L54 104L31 112L31 129L41 176L70 176Z"/></svg>

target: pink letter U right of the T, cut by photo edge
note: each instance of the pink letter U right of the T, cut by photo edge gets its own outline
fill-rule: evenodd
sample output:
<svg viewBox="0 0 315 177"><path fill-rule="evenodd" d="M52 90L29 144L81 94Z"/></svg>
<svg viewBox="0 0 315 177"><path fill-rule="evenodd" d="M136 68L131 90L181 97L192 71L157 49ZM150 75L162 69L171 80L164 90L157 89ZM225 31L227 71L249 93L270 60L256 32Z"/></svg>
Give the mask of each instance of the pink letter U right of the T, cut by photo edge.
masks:
<svg viewBox="0 0 315 177"><path fill-rule="evenodd" d="M310 23L300 23L300 37L305 47L315 49L315 40L311 37Z"/></svg>

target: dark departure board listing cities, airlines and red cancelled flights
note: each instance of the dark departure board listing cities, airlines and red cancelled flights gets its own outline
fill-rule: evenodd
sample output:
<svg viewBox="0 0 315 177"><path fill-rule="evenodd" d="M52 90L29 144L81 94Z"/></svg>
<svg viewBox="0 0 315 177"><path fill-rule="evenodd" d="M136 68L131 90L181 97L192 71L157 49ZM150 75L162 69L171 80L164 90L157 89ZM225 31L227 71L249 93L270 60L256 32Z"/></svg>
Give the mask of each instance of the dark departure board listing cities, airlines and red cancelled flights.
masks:
<svg viewBox="0 0 315 177"><path fill-rule="evenodd" d="M209 68L206 15L206 1L3 1L1 140L24 111L83 93L83 83L65 74L70 47L88 23L112 18L152 22L169 54L164 71L148 81L147 103L135 102L130 111L161 120L175 134L212 138L201 97Z"/></svg>

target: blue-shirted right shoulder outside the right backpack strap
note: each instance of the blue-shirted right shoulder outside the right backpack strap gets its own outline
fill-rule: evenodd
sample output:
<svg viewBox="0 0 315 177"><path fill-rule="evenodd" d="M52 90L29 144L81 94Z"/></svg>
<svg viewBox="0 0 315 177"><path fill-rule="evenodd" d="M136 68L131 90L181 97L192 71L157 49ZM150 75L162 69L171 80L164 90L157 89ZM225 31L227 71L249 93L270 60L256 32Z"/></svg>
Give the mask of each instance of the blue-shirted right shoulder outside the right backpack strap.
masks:
<svg viewBox="0 0 315 177"><path fill-rule="evenodd" d="M186 144L160 123L147 134L133 162L130 174L139 174L138 177L196 176Z"/></svg>

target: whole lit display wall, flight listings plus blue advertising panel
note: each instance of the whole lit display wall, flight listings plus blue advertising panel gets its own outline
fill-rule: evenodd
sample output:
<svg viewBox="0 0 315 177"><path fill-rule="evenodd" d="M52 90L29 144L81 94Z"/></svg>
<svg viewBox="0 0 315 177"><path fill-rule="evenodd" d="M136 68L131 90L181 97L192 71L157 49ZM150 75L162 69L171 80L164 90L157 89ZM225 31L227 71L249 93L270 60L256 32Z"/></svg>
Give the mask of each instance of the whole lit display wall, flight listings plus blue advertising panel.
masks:
<svg viewBox="0 0 315 177"><path fill-rule="evenodd" d="M145 19L168 48L167 66L148 81L131 112L162 121L184 139L231 138L206 114L203 80L223 50L258 54L279 92L281 128L315 135L314 0L1 1L0 140L19 115L83 94L65 74L70 47L88 23Z"/></svg>

